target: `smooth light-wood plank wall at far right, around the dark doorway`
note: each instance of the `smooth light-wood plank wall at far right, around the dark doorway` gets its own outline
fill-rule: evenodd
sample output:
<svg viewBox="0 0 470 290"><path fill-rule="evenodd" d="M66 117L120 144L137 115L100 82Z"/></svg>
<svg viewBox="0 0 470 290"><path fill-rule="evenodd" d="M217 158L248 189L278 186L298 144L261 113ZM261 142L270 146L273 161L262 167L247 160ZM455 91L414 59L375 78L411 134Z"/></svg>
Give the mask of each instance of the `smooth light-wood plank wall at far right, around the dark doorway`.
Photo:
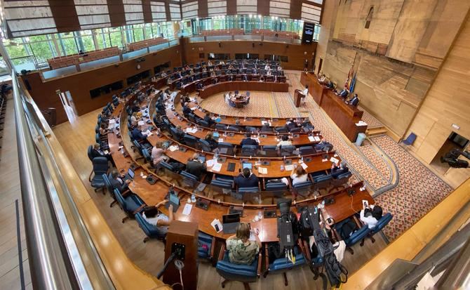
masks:
<svg viewBox="0 0 470 290"><path fill-rule="evenodd" d="M436 157L452 131L470 139L469 67L470 19L467 17L408 131L417 134L411 150L425 162L430 163ZM452 128L452 124L460 129ZM469 177L470 169L449 169L445 173L445 178L455 187Z"/></svg>

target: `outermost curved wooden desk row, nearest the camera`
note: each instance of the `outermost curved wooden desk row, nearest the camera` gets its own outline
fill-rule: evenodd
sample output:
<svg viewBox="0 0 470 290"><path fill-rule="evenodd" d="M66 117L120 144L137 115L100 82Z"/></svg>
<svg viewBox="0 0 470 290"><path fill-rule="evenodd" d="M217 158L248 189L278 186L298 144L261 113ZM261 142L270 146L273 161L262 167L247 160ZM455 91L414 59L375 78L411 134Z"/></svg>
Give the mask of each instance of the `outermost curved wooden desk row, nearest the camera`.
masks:
<svg viewBox="0 0 470 290"><path fill-rule="evenodd" d="M128 103L132 103L133 100L135 100L135 95L130 98ZM112 155L112 159L116 165L116 168L120 171L127 171L131 164L137 164L137 169L135 169L135 178L130 183L129 188L132 190L132 192L138 195L145 202L145 204L153 206L158 202L161 202L163 199L165 199L165 196L170 187L174 186L175 192L177 192L178 196L180 197L181 203L180 208L175 213L175 220L197 223L199 230L202 232L220 239L227 239L227 237L230 235L224 235L223 232L215 232L210 223L215 218L221 220L222 215L229 212L229 206L243 206L243 217L241 218L241 221L249 222L253 228L260 230L259 237L261 242L278 241L276 218L262 218L258 221L254 220L255 216L257 216L258 213L264 211L264 209L276 210L276 202L271 204L252 205L225 202L224 196L219 197L218 199L212 199L206 195L203 195L202 192L197 192L194 190L194 188L180 185L178 182L175 183L175 180L167 180L166 177L160 173L159 175L156 175L153 173L153 171L151 171L151 169L149 169L148 164L139 162L137 160L137 158L140 157L139 153L133 152L133 150L130 149L131 143L130 139L128 138L128 128L126 126L127 114L126 111L123 110L123 107L123 103L120 103L112 113L112 117L117 120L119 127L114 128L114 130L110 130L107 134L109 152ZM153 134L150 136L150 139L155 137L156 134ZM123 154L123 152L126 152L126 156ZM325 163L330 165L330 162ZM142 175L153 176L153 178L156 180L156 183L150 184L145 178L142 177ZM177 175L179 176L179 174ZM307 198L299 202L294 202L291 210L297 212L297 206L314 206L322 202L323 198L326 196L333 197L335 202L325 206L324 214L326 214L326 216L331 216L336 220L336 222L340 222L341 220L344 220L345 218L362 209L362 199L368 200L369 204L374 204L374 200L372 197L370 197L368 192L366 190L361 191L359 189L361 186L362 182L351 185L351 187L347 187L344 190L321 195L316 199ZM196 197L205 199L210 203L208 209L200 209L192 204L193 207L191 213L188 216L183 215L182 211L184 206L187 204L187 198L190 197L193 192ZM352 195L350 195L351 192ZM263 195L263 192L260 194ZM168 215L168 210L165 207L162 206L160 210ZM277 212L277 214L279 214L279 212Z"/></svg>

